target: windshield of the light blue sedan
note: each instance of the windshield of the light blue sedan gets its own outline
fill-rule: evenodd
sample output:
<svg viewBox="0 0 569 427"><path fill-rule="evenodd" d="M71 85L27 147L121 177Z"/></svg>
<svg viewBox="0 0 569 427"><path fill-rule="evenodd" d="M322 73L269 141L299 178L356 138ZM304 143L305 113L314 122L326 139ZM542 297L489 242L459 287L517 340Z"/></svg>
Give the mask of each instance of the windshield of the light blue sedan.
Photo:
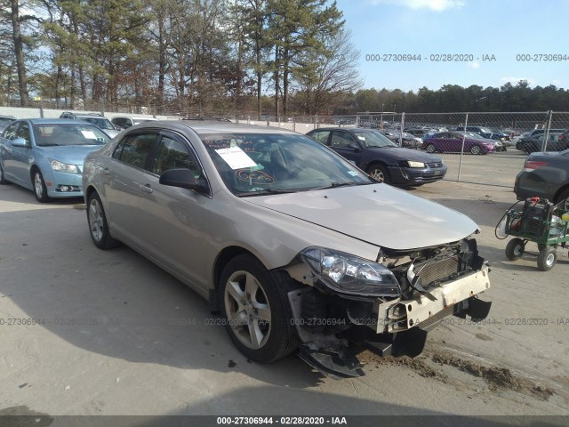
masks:
<svg viewBox="0 0 569 427"><path fill-rule="evenodd" d="M38 147L58 145L103 145L110 141L107 133L97 126L70 124L34 125L34 135Z"/></svg>

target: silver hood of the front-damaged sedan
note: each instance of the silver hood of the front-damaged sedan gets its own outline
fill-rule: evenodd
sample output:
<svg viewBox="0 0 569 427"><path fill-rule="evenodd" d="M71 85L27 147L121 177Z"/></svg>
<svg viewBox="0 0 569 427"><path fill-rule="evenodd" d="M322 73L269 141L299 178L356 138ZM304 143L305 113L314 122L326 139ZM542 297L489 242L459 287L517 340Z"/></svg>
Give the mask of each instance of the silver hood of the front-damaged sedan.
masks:
<svg viewBox="0 0 569 427"><path fill-rule="evenodd" d="M387 184L244 197L244 201L396 250L461 240L477 224L430 200Z"/></svg>

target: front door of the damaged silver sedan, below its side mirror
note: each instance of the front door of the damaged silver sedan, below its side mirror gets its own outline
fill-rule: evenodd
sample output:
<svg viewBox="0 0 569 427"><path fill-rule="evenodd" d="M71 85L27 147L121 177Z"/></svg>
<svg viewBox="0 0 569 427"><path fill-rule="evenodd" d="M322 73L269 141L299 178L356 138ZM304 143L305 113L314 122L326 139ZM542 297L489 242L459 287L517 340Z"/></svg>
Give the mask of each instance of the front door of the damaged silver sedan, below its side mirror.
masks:
<svg viewBox="0 0 569 427"><path fill-rule="evenodd" d="M203 172L190 144L179 134L160 134L149 173L142 182L147 189L140 197L142 249L205 288L211 271L206 262L212 199L190 189L160 184L160 175L170 169L189 169L196 177Z"/></svg>

